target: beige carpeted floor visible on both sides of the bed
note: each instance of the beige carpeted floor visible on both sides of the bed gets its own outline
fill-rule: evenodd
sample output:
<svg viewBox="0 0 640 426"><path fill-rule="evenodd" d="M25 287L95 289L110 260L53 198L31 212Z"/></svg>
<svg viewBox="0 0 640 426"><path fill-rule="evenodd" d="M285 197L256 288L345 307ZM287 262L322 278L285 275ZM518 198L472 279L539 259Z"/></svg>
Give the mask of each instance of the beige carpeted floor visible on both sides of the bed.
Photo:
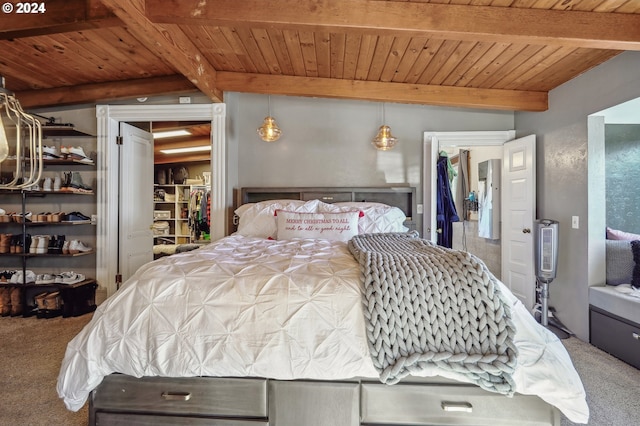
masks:
<svg viewBox="0 0 640 426"><path fill-rule="evenodd" d="M68 411L56 381L67 342L91 316L0 318L0 426L87 425L87 406ZM576 338L563 343L587 392L589 425L640 424L640 370ZM562 419L562 426L571 425Z"/></svg>

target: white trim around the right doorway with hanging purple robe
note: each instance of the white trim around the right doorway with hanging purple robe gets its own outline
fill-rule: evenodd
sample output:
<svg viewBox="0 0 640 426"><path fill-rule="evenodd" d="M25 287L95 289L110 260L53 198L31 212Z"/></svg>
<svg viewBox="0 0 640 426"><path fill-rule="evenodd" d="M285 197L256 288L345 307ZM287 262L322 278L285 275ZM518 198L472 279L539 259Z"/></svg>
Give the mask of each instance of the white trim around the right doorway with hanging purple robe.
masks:
<svg viewBox="0 0 640 426"><path fill-rule="evenodd" d="M423 182L430 182L431 187L429 192L429 198L423 197L423 202L426 205L427 201L430 203L429 214L422 216L423 235L425 238L433 241L438 241L436 233L436 197L432 196L437 192L437 179L435 167L427 167L429 164L435 165L435 162L431 161L435 159L440 151L440 145L447 146L491 146L491 145L504 145L505 142L515 139L515 130L497 130L497 131L467 131L467 132L424 132L423 147L424 147L424 170L423 170ZM427 188L423 190L426 192ZM426 195L426 194L425 194ZM428 231L431 232L428 232Z"/></svg>

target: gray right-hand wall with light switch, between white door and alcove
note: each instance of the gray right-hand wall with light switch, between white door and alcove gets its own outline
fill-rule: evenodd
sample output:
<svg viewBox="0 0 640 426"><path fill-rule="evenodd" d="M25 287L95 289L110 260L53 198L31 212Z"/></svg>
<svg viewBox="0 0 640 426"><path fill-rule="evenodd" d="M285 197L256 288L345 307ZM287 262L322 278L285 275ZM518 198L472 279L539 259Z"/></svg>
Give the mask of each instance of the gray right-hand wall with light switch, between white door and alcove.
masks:
<svg viewBox="0 0 640 426"><path fill-rule="evenodd" d="M538 217L560 222L559 270L551 283L550 305L560 320L588 341L588 286L602 280L591 264L604 264L604 193L589 176L588 115L640 96L640 52L625 52L554 89L549 110L516 113L518 136L537 135ZM597 156L591 153L596 174ZM602 184L604 187L604 185ZM591 207L591 209L590 209ZM590 217L593 210L593 217ZM579 216L580 228L571 228ZM601 267L599 269L602 269Z"/></svg>

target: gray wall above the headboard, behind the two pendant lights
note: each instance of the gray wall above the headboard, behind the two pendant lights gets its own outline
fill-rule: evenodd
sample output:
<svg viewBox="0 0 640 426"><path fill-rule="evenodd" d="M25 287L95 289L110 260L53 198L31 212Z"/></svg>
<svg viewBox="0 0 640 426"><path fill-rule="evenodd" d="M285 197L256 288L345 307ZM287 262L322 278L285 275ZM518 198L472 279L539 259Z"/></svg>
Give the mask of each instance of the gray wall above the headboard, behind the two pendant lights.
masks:
<svg viewBox="0 0 640 426"><path fill-rule="evenodd" d="M411 185L419 203L425 131L511 130L514 124L509 111L387 103L385 122L399 143L381 152L371 145L382 124L380 103L271 96L271 115L283 131L274 143L256 133L268 96L225 93L225 103L231 186Z"/></svg>

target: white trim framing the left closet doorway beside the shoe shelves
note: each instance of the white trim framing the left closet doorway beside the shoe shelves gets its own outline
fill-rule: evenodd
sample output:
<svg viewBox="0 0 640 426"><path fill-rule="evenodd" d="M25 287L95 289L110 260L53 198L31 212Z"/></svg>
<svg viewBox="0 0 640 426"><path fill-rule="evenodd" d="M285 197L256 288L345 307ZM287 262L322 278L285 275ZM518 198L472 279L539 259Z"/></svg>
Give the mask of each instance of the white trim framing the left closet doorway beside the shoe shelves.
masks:
<svg viewBox="0 0 640 426"><path fill-rule="evenodd" d="M226 229L226 105L97 105L98 223L96 229L96 280L107 296L115 291L118 256L118 149L116 137L121 121L211 121L211 239Z"/></svg>

